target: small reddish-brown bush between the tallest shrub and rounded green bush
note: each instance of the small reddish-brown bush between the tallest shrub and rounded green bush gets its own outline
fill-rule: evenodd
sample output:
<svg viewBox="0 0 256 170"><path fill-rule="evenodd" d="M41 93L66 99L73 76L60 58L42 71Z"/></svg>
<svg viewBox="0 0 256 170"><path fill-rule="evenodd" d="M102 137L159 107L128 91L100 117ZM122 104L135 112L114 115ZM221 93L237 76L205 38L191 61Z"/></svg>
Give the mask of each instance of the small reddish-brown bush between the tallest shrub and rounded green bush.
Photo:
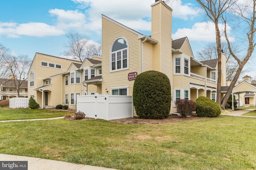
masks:
<svg viewBox="0 0 256 170"><path fill-rule="evenodd" d="M196 110L196 102L188 99L178 99L175 102L177 107L177 113L180 113L181 117L187 117L191 115L192 111Z"/></svg>

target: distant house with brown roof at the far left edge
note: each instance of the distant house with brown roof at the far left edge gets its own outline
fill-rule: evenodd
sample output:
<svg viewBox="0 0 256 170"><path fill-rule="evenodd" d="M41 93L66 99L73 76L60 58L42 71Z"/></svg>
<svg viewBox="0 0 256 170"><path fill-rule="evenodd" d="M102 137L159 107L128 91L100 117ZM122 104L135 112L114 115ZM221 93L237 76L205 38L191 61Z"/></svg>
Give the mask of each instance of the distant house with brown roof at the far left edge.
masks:
<svg viewBox="0 0 256 170"><path fill-rule="evenodd" d="M17 78L17 77L16 77ZM18 80L14 80L13 76L10 75L9 79L0 80L0 100L6 100L10 98L18 97L18 93L15 87L15 83L18 84ZM25 80L19 88L20 98L28 97L28 81Z"/></svg>

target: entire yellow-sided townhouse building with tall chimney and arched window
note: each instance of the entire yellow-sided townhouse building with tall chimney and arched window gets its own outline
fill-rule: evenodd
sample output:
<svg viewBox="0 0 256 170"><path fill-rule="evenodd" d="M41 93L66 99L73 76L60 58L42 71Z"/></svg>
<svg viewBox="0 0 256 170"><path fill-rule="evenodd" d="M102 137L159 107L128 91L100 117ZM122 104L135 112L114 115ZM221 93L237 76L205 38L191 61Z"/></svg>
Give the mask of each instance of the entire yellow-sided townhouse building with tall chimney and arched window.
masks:
<svg viewBox="0 0 256 170"><path fill-rule="evenodd" d="M187 37L172 40L172 9L162 0L152 7L152 31L147 36L102 15L102 58L83 63L36 53L28 73L28 96L41 107L76 106L76 96L132 95L135 77L148 70L166 74L177 99L206 96L216 101L218 61L194 59ZM226 55L222 82L226 85Z"/></svg>

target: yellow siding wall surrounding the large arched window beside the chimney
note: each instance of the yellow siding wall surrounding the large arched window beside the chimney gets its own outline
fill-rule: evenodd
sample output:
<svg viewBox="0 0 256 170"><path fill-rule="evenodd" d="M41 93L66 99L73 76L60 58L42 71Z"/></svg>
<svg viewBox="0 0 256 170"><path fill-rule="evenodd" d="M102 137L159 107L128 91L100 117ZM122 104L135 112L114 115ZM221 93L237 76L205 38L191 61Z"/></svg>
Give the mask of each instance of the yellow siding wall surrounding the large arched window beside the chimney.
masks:
<svg viewBox="0 0 256 170"><path fill-rule="evenodd" d="M127 39L128 43L128 70L120 70L110 72L110 49L111 45L117 37L122 35ZM141 51L140 40L138 35L116 25L115 23L102 18L102 92L110 88L129 86L129 94L132 95L134 81L128 81L129 72L138 72L141 70ZM114 81L114 82L113 82Z"/></svg>

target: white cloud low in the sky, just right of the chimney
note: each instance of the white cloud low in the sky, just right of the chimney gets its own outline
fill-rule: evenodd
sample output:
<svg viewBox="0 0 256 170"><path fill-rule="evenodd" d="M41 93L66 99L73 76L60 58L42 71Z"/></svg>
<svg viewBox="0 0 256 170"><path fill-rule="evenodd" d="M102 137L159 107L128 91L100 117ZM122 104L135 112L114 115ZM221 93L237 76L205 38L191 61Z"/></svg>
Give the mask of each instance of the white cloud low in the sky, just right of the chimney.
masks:
<svg viewBox="0 0 256 170"><path fill-rule="evenodd" d="M219 24L220 33L222 35L222 41L225 41L223 36L224 26ZM235 39L230 34L231 28L227 26L228 34L230 35L230 42L233 42ZM172 34L173 39L178 39L182 37L188 37L190 41L202 41L202 42L216 42L215 34L215 25L213 22L198 22L195 23L192 28L179 28L176 33Z"/></svg>

